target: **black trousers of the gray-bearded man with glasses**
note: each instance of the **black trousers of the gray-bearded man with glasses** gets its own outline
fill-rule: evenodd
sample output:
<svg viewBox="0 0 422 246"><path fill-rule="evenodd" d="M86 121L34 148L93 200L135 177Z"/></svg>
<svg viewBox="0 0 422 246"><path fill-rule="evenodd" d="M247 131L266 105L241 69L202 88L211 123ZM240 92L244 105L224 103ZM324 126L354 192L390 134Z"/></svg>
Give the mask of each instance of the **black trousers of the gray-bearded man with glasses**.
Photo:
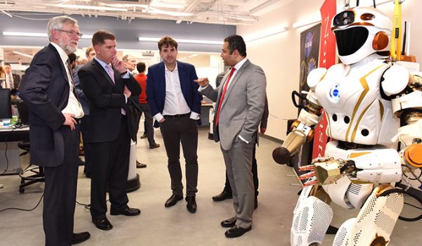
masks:
<svg viewBox="0 0 422 246"><path fill-rule="evenodd" d="M46 246L69 246L75 214L79 167L79 125L59 129L65 143L65 158L58 167L44 167L45 188L42 212Z"/></svg>

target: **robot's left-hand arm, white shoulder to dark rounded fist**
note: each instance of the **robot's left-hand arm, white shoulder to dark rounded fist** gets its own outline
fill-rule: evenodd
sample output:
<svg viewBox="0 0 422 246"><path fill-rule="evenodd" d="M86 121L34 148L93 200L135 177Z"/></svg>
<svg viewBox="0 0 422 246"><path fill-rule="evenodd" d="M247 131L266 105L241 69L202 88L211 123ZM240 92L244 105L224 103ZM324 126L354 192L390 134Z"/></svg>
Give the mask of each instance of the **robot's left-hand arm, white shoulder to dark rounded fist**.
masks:
<svg viewBox="0 0 422 246"><path fill-rule="evenodd" d="M295 101L295 95L300 96L296 91L293 91L293 104L297 108L301 108L298 119L293 122L291 132L286 137L281 147L273 151L273 159L279 164L286 164L290 158L298 153L300 147L307 141L311 141L314 136L314 126L318 124L321 119L321 105L315 96L315 86L324 77L326 73L325 68L316 68L309 72L307 77L307 84L309 91L306 98L302 98L305 105L298 105Z"/></svg>

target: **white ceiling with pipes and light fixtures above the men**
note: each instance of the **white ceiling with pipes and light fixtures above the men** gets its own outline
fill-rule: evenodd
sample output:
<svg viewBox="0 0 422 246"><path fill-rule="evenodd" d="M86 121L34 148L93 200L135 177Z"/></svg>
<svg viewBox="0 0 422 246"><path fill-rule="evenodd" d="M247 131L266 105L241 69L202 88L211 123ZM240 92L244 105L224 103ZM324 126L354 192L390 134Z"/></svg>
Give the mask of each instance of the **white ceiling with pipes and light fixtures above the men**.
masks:
<svg viewBox="0 0 422 246"><path fill-rule="evenodd" d="M294 0L0 0L0 10L250 25ZM36 4L35 4L36 3Z"/></svg>

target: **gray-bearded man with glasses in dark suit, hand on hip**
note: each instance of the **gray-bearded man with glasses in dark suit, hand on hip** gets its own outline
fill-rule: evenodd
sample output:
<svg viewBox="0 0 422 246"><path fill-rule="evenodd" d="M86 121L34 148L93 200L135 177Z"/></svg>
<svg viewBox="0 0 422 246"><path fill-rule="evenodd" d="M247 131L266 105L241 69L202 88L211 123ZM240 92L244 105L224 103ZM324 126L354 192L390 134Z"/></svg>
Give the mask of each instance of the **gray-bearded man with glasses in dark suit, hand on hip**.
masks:
<svg viewBox="0 0 422 246"><path fill-rule="evenodd" d="M77 122L84 112L65 64L82 34L77 20L68 16L52 18L47 30L51 43L34 56L19 91L30 108L31 163L44 167L46 245L71 245L89 238L87 232L72 233L78 171Z"/></svg>

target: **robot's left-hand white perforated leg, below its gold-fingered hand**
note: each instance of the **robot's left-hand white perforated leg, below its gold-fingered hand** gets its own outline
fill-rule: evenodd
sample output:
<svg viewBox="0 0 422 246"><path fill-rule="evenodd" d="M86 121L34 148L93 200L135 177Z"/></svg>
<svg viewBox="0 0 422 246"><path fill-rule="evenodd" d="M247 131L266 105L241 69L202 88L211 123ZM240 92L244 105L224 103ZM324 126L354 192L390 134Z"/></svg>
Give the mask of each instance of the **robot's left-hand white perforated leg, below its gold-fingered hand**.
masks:
<svg viewBox="0 0 422 246"><path fill-rule="evenodd" d="M293 212L290 245L321 245L333 219L333 209L325 202L309 195L312 186L303 188Z"/></svg>

